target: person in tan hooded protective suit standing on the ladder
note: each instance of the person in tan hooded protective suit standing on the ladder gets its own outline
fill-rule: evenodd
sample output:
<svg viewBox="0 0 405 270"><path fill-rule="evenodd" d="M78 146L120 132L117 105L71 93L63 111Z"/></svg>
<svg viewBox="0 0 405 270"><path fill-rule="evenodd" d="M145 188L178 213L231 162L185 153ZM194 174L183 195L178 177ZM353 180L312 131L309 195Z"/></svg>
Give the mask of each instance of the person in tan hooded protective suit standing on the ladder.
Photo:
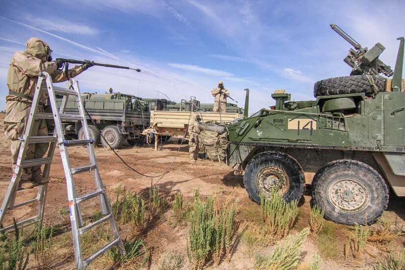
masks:
<svg viewBox="0 0 405 270"><path fill-rule="evenodd" d="M60 60L52 61L52 50L44 41L37 37L27 40L27 50L19 51L11 57L7 75L8 95L6 96L6 111L4 118L4 134L11 139L11 160L13 169L15 168L18 153L20 151L21 140L25 133L28 122L29 111L31 109L38 73L48 72L53 82L67 81L68 78L63 71L58 70L63 66ZM86 61L81 66L76 66L68 70L68 77L73 78L94 63ZM48 93L43 93L40 97L38 112L43 112L47 105ZM45 119L35 119L33 123L32 136L47 136L48 127ZM48 143L29 144L26 160L42 158L48 150ZM41 166L24 168L20 185L23 189L34 186L34 182L39 184L47 183L47 179L42 176Z"/></svg>

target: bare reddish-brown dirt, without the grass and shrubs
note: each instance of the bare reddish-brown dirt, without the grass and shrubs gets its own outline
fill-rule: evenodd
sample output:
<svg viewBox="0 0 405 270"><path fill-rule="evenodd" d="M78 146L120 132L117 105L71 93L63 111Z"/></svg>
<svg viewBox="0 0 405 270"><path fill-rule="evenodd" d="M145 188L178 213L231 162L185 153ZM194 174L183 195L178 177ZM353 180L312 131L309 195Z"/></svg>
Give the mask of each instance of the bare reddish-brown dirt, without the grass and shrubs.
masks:
<svg viewBox="0 0 405 270"><path fill-rule="evenodd" d="M2 121L1 121L2 122ZM0 128L3 130L2 127ZM155 151L147 144L140 147L132 147L124 145L124 147L117 151L118 154L127 161L131 166L143 174L150 176L159 175L164 172L173 162L170 171L163 177L151 178L141 176L133 170L126 167L112 151L104 148L96 148L96 159L100 169L103 183L111 195L110 200L113 201L114 195L111 190L122 183L127 189L137 193L148 192L153 185L160 187L161 196L167 200L172 200L177 191L182 191L185 199L192 201L193 192L195 189L200 189L201 196L210 196L214 193L217 196L225 198L233 192L235 198L239 199L238 212L236 221L238 225L238 234L241 236L243 231L246 230L245 220L254 219L255 215L260 213L260 207L252 202L244 187L243 177L235 176L232 169L225 164L218 164L218 162L199 161L197 163L188 162L188 146L178 143L176 138L172 138L162 145L161 150ZM87 150L83 147L69 148L69 157L72 166L84 165L87 161ZM5 192L8 188L11 178L11 162L9 141L6 140L4 134L0 133L0 200L2 201ZM86 173L78 174L76 178L76 187L79 194L89 192L94 188L93 180L91 177L86 176ZM29 189L19 192L19 196L27 199L34 197L37 189ZM20 195L21 194L21 195ZM310 194L306 193L299 202L299 216L293 233L308 226L309 208L310 208ZM386 218L394 220L397 218L399 226L405 224L405 209L403 207L404 200L392 196L386 213ZM52 269L75 269L73 243L71 240L69 213L63 210L68 209L66 183L63 173L63 168L58 155L55 151L54 162L50 173L50 183L48 187L48 194L46 199L45 220L54 226L61 226L65 228L65 233L55 238L54 242L58 239L64 238L66 243L64 246L59 246L55 249L53 254ZM27 218L30 214L35 214L34 206L25 206L14 211L9 211L3 223L9 224L14 216L17 220ZM82 211L84 215L90 215L93 212L99 211L96 202L89 202L83 206ZM187 222L182 225L174 225L172 210L167 209L158 220L153 224L148 225L145 231L139 235L141 237L151 254L150 261L144 269L158 269L157 262L160 256L167 251L175 251L183 255L183 268L191 269L192 265L187 259L187 240L189 238L189 225ZM327 224L332 223L328 222ZM349 232L352 228L348 226L332 224L336 226L335 239L338 240L338 252L334 258L325 258L321 263L322 269L373 269L377 261L383 261L386 253L380 251L378 248L367 245L367 254L362 260L344 260L343 248L344 244L348 241ZM374 226L377 226L374 225ZM131 234L133 229L130 227L121 227L121 235L125 239ZM404 236L395 237L392 242L392 248L404 247ZM326 243L327 245L327 243ZM244 243L243 237L237 238L234 243L234 248L230 255L221 262L219 266L212 264L206 265L206 269L253 269L252 250L251 247ZM274 246L257 246L255 250L261 253L269 253ZM314 237L309 235L307 237L305 247L301 253L301 261L311 260L314 254L322 254L319 250L319 244L315 241ZM340 254L340 255L339 255ZM35 269L35 263L30 258L30 269ZM90 265L92 266L92 265ZM108 269L110 265L105 265L102 268ZM90 267L90 269L100 269L100 267ZM125 269L125 267L123 268Z"/></svg>

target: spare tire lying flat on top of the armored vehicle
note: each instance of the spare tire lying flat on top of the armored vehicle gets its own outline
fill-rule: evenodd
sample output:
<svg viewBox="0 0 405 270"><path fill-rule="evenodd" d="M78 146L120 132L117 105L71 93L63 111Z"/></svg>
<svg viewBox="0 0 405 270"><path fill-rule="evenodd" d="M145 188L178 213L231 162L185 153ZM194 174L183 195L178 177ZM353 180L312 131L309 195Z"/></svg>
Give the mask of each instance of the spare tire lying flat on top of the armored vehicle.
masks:
<svg viewBox="0 0 405 270"><path fill-rule="evenodd" d="M378 91L385 91L386 78L381 76L368 76L373 79ZM366 93L371 96L376 93L376 89L367 79L366 75L354 75L345 77L330 78L317 81L314 85L314 96L328 96L351 93Z"/></svg>

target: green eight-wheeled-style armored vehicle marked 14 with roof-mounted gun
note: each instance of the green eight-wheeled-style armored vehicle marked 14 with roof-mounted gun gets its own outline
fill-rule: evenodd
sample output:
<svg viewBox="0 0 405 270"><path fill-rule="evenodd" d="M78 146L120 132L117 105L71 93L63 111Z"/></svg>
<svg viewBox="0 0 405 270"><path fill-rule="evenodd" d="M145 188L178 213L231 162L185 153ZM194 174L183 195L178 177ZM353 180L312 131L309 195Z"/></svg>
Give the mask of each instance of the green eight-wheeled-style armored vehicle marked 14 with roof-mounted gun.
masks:
<svg viewBox="0 0 405 270"><path fill-rule="evenodd" d="M271 109L251 117L245 109L227 125L227 162L257 203L272 189L299 200L307 182L326 218L370 224L386 209L389 188L405 196L404 38L392 71L378 59L381 44L362 48L331 27L355 49L345 58L351 76L316 82L315 101L276 90Z"/></svg>

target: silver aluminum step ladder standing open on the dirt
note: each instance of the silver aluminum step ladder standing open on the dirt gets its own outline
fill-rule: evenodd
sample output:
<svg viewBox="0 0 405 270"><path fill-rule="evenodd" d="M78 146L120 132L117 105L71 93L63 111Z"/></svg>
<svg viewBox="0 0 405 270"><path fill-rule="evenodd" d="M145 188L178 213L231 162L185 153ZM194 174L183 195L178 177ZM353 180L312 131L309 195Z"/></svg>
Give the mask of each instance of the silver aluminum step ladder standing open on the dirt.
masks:
<svg viewBox="0 0 405 270"><path fill-rule="evenodd" d="M39 112L38 105L41 95L48 91L49 100L51 102L52 113L50 112ZM60 104L60 108L57 108L56 97L55 95L62 95L62 102ZM79 109L79 114L68 114L65 113L66 104L68 101L69 96L76 97L77 107ZM34 119L54 119L55 123L55 130L53 136L31 136L31 130L33 127ZM62 120L75 120L80 121L81 126L83 127L84 131L84 139L83 140L66 140L63 135L62 129ZM49 179L49 172L51 168L52 159L54 156L54 150L56 145L59 146L60 157L62 159L63 169L65 172L66 177L66 186L67 186L67 193L68 193L68 201L69 201L69 215L72 225L72 235L73 235L73 244L75 249L75 260L76 260L76 267L77 269L84 269L86 268L89 263L95 260L98 256L102 255L105 251L113 246L118 246L118 249L122 256L126 255L125 248L119 234L118 226L115 222L114 216L111 211L111 206L108 202L108 197L106 190L104 189L103 183L101 181L100 173L98 170L94 149L92 146L93 139L89 137L88 134L88 126L87 120L85 116L84 108L82 107L81 103L81 96L80 96L80 89L78 81L71 79L68 82L68 88L62 88L54 86L52 83L51 76L46 73L42 72L38 74L38 81L37 87L35 89L35 95L33 97L31 110L29 113L29 118L27 122L26 132L21 139L21 147L20 152L17 159L16 168L14 170L13 176L11 177L10 185L7 189L6 195L4 197L3 203L0 208L0 224L3 220L4 215L6 214L7 210L12 210L18 207L25 206L27 204L31 204L34 202L39 202L39 210L37 216L29 217L23 221L17 222L17 225L30 225L33 223L38 223L44 217L44 209L45 209L45 199L47 194L48 184L38 185L38 193L35 199L27 200L21 203L15 204L15 199L17 196L17 192L20 190L18 188L20 176L22 174L22 169L26 167L32 166L39 166L45 165L43 169L43 177ZM40 159L32 159L32 160L25 160L26 153L27 153L27 145L31 143L50 143L50 148L48 150L48 155L44 158ZM87 146L87 151L89 155L89 165L80 166L76 168L72 168L69 161L68 155L68 147L70 146ZM92 172L95 182L96 190L89 192L84 195L78 196L75 188L75 181L73 179L73 175L82 173L82 172ZM81 209L79 203L84 202L88 199L98 197L100 206L101 206L101 213L103 217L91 224L84 226L83 219L81 216ZM113 240L107 243L98 251L94 252L92 255L88 256L87 258L82 258L82 251L81 251L81 235L92 229L93 227L101 224L104 221L109 221L111 231L113 234ZM14 225L9 225L4 227L2 231L12 229Z"/></svg>

